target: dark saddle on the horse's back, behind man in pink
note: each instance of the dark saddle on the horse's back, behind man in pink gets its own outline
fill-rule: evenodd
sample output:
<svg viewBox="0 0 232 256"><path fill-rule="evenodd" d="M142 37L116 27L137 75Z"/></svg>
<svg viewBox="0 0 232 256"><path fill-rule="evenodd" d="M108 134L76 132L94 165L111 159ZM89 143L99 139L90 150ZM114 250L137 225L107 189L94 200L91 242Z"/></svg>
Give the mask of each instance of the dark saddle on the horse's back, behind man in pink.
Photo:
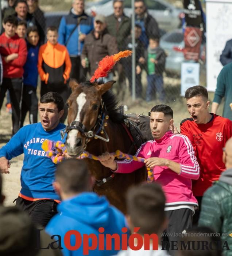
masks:
<svg viewBox="0 0 232 256"><path fill-rule="evenodd" d="M124 114L124 124L127 126L138 149L144 142L153 140L150 129L150 117L143 114Z"/></svg>

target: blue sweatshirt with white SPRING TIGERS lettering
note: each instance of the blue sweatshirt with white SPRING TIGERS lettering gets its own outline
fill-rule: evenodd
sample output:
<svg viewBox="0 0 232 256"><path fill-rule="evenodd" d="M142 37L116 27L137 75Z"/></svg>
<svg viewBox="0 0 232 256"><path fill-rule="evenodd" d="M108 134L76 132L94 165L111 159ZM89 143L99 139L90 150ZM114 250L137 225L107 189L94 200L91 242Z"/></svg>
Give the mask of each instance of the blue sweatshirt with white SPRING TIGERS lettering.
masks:
<svg viewBox="0 0 232 256"><path fill-rule="evenodd" d="M60 131L63 128L64 124L58 124L55 129L46 132L41 123L26 125L0 149L0 157L8 160L24 153L20 191L24 199L60 200L52 185L56 166L45 156L41 145L45 139L61 140Z"/></svg>

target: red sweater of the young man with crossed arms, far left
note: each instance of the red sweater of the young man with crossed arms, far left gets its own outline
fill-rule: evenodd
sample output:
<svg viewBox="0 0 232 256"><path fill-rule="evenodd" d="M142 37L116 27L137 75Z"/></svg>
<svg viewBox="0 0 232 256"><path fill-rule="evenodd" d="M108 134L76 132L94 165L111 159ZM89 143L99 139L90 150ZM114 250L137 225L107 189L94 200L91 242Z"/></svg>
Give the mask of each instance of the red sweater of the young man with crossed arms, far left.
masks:
<svg viewBox="0 0 232 256"><path fill-rule="evenodd" d="M11 53L18 53L17 59L5 62L4 57ZM3 77L4 78L21 78L23 76L23 65L27 60L27 45L23 38L17 34L8 38L5 33L0 35L0 54L3 59Z"/></svg>

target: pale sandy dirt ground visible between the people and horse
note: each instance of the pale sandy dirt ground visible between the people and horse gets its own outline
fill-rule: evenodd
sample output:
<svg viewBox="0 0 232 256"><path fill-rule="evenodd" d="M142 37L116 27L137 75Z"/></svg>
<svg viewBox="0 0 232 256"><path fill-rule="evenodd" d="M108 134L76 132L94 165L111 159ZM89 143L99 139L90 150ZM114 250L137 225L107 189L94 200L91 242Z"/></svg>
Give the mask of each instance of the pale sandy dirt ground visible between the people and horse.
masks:
<svg viewBox="0 0 232 256"><path fill-rule="evenodd" d="M165 78L165 88L166 90L169 87L179 86L180 80L179 79L171 79ZM212 102L213 93L209 93L209 98ZM146 103L142 100L136 100L135 102L131 101L131 98L128 95L128 92L125 95L124 102L120 102L121 105L126 105L128 111L125 113L137 113L142 114L144 113L147 115L148 111L156 104L160 102L154 101L151 103ZM184 119L189 117L186 109L185 99L180 97L179 94L169 95L169 102L167 105L171 106L174 111L174 123L179 129L179 123ZM11 114L5 111L5 105L1 109L0 113L0 147L4 146L9 139L11 138L11 129L12 129L12 122L11 122ZM222 106L221 104L219 108L219 114L222 113ZM38 118L39 120L39 118ZM28 124L28 116L26 117L25 124ZM13 205L13 200L18 197L18 193L20 191L20 171L23 166L23 155L19 157L13 158L11 161L11 167L9 169L9 174L3 174L3 193L6 196L5 206Z"/></svg>

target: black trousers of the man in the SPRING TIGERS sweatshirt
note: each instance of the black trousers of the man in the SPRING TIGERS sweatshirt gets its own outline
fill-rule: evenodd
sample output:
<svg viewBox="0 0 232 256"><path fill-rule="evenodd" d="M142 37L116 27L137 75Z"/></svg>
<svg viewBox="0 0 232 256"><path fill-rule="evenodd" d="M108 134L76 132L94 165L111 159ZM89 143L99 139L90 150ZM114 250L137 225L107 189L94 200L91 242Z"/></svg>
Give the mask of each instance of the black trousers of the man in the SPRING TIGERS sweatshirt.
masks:
<svg viewBox="0 0 232 256"><path fill-rule="evenodd" d="M16 206L26 211L36 225L45 227L50 219L57 214L57 202L52 199L28 201L22 197L16 199Z"/></svg>

